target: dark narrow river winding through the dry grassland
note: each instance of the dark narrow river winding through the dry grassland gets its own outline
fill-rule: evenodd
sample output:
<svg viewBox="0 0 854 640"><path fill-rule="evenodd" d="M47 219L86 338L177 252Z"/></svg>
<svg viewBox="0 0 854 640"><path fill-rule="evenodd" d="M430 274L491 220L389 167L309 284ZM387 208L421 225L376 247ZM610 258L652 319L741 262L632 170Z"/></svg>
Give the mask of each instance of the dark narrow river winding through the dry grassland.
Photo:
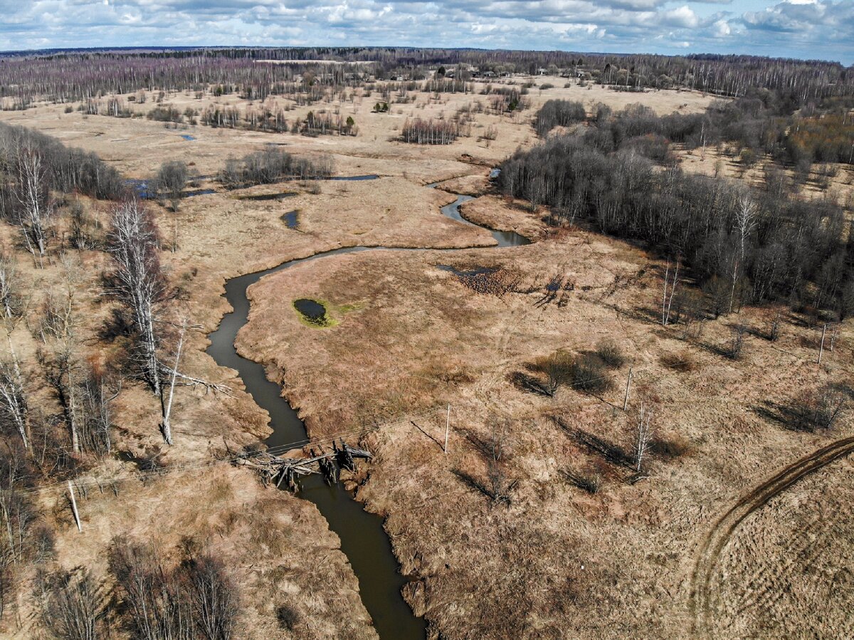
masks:
<svg viewBox="0 0 854 640"><path fill-rule="evenodd" d="M374 179L378 176L355 176L352 179ZM341 178L347 179L347 178ZM429 185L435 187L436 183ZM445 207L442 214L466 225L474 225L459 214L459 205L471 200L470 196L457 194L457 199ZM482 227L488 229L488 227ZM498 247L529 244L529 240L515 232L500 232L488 229L498 242ZM235 369L254 401L270 414L272 435L265 444L268 448L291 443L307 443L306 427L282 397L281 388L266 378L264 367L237 354L234 347L237 332L249 320L249 298L246 290L266 275L277 273L307 261L319 260L330 255L355 253L358 251L392 250L383 247L346 247L312 255L307 258L283 262L278 267L232 278L225 283L225 298L233 311L225 314L216 331L209 334L211 344L208 354L222 367ZM424 249L394 249L424 251ZM447 249L445 251L455 251ZM298 446L298 445L295 445ZM362 602L371 615L374 628L382 640L420 640L426 636L423 618L418 618L401 595L408 582L401 575L400 565L391 549L389 537L383 530L383 519L370 514L362 504L344 490L342 484L328 486L320 474L301 479L301 490L297 496L313 502L323 514L330 529L341 539L341 549L353 567Z"/></svg>

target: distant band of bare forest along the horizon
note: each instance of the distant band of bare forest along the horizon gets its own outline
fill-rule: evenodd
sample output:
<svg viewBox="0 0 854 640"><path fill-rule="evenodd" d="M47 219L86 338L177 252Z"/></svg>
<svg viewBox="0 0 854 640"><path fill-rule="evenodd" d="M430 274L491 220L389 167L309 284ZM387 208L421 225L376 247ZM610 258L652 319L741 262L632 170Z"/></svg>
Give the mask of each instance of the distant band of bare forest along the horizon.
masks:
<svg viewBox="0 0 854 640"><path fill-rule="evenodd" d="M259 61L325 61L263 64ZM340 62L354 64L341 65ZM35 100L79 101L108 93L201 91L223 85L253 99L282 91L308 72L313 83L359 85L368 78L428 79L436 68L457 79L512 73L560 73L625 90L684 88L740 97L775 91L793 109L850 97L854 70L839 62L759 56L652 56L567 51L410 49L383 47L68 50L0 56L0 97L13 108Z"/></svg>

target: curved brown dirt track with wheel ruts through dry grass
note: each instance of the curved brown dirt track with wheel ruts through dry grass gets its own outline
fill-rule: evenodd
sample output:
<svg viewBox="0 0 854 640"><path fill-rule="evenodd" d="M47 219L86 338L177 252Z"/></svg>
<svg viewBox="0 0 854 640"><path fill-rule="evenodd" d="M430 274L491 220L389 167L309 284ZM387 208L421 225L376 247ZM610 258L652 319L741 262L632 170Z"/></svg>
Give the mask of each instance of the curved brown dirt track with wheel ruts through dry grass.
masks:
<svg viewBox="0 0 854 640"><path fill-rule="evenodd" d="M761 508L771 498L787 490L799 479L827 466L854 451L854 437L845 437L784 467L774 477L766 480L741 496L706 534L691 576L689 607L693 616L693 633L696 637L711 637L711 578L718 556L727 545L735 529L746 517Z"/></svg>

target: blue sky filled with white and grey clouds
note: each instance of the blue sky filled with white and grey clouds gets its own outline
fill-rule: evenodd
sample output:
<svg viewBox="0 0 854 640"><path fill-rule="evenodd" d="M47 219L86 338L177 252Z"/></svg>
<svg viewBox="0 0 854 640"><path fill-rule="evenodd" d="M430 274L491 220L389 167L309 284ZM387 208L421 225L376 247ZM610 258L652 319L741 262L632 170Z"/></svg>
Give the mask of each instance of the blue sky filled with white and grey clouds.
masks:
<svg viewBox="0 0 854 640"><path fill-rule="evenodd" d="M0 50L384 44L854 62L854 0L0 0Z"/></svg>

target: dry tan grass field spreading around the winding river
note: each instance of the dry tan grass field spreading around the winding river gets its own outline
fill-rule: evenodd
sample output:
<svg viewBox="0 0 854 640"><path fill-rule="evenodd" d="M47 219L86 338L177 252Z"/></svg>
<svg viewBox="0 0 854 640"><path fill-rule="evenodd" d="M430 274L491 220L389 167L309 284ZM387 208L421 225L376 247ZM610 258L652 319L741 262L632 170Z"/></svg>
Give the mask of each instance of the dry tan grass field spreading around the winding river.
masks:
<svg viewBox="0 0 854 640"><path fill-rule="evenodd" d="M0 119L97 151L131 178L150 176L165 160L192 163L200 186L214 191L184 199L177 214L151 206L166 245L174 244L162 259L184 291L182 310L200 326L184 368L229 385L233 397L179 390L175 444L167 449L155 400L130 386L119 400L119 449L160 452L163 464L185 465L265 437L266 414L236 373L205 353L207 333L228 310L225 280L338 247L396 248L324 257L261 279L249 290L250 321L237 347L268 367L312 437L427 414L363 437L376 459L355 488L366 508L386 518L401 571L412 576L407 601L426 616L430 637L689 637L702 617L691 592L699 549L717 519L782 467L854 435L848 414L831 432L811 433L785 412L828 382L854 385L854 335L843 326L818 366L820 331L804 319L784 314L781 337L763 338L775 309L746 308L688 335L681 325L661 326L661 261L583 228L548 229L546 212L488 193L489 167L535 144L529 119L547 99L615 110L641 102L659 114L699 112L712 101L684 91L628 94L564 87L559 78L535 81L557 88L532 89L521 114L475 114L471 137L436 147L399 142L403 121L453 114L483 97L418 93L414 103L392 103L389 114L371 113L377 95L314 105L352 115L355 137L175 130L143 118L65 113L61 105L4 111ZM189 93L164 103L182 111L246 105ZM134 109L153 106L149 100ZM480 135L488 126L497 129L494 141ZM329 155L339 176L381 177L243 191L213 180L226 158L266 144ZM688 171L714 172L714 150L702 159L697 151L681 156ZM726 170L735 176L735 167ZM438 189L425 186L436 181L444 181ZM850 189L851 174L843 170L836 181L839 190ZM273 192L295 195L241 199ZM487 231L442 216L451 192L476 197L462 209L468 219L533 243L495 248ZM97 203L86 206L106 219ZM299 228L289 229L282 216L294 210ZM78 303L93 330L104 313L97 300L102 260L81 255ZM442 266L489 272L472 278ZM32 281L61 286L58 263L22 268ZM301 322L292 302L306 297L334 305L336 325ZM724 353L736 324L748 327L737 360ZM17 331L32 355L34 341L23 327ZM525 384L541 380L541 359L588 354L604 342L624 356L607 369L605 388L564 384L548 397ZM654 437L639 479L631 451L641 406L652 412ZM114 535L154 537L167 549L190 537L233 569L243 592L241 637L376 637L354 572L311 503L264 489L224 464L159 479L141 479L129 462L110 464L102 478L122 481L117 494L105 485L81 500L85 535L61 493L44 493L42 506L59 526L61 565L103 575ZM822 467L771 496L722 539L717 564L705 567L714 619L708 635L851 636L851 472L846 458ZM580 488L590 479L599 487L594 493ZM292 631L278 628L281 602L301 614ZM23 600L19 612L5 632L33 637L37 621Z"/></svg>

